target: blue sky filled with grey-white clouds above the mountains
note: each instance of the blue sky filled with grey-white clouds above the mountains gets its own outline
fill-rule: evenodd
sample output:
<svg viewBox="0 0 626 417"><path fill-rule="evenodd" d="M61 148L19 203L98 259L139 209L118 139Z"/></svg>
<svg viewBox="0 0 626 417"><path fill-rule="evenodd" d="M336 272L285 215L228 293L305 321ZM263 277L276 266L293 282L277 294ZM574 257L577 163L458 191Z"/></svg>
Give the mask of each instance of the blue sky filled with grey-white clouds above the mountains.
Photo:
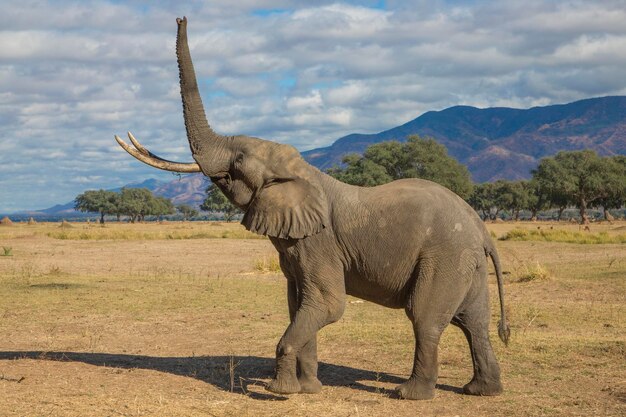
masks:
<svg viewBox="0 0 626 417"><path fill-rule="evenodd" d="M175 179L114 134L192 161L182 16L212 127L300 151L454 105L626 95L626 0L0 0L0 213Z"/></svg>

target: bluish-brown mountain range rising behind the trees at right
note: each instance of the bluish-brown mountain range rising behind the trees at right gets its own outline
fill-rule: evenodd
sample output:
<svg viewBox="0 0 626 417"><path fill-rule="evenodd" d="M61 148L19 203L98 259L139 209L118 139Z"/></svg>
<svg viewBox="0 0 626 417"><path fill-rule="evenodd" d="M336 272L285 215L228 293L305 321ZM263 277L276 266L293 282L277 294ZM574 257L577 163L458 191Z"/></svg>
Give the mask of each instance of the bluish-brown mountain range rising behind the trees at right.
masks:
<svg viewBox="0 0 626 417"><path fill-rule="evenodd" d="M324 170L349 153L410 135L430 136L467 165L474 181L524 179L537 162L559 151L593 149L626 154L626 97L601 97L531 109L455 106L430 111L402 126L376 134L351 134L326 148L303 152Z"/></svg>

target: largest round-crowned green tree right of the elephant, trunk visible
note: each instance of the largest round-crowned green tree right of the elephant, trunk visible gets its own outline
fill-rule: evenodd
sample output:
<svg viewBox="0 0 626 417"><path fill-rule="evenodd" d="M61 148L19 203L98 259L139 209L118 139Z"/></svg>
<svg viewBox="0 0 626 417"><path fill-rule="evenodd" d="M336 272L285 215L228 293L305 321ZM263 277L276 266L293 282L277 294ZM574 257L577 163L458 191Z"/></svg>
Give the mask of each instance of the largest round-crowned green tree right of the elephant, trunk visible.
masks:
<svg viewBox="0 0 626 417"><path fill-rule="evenodd" d="M578 207L581 223L588 223L587 208L608 195L608 165L591 150L562 151L554 157L543 158L533 171L533 178L551 202L554 201L552 192L561 195Z"/></svg>

